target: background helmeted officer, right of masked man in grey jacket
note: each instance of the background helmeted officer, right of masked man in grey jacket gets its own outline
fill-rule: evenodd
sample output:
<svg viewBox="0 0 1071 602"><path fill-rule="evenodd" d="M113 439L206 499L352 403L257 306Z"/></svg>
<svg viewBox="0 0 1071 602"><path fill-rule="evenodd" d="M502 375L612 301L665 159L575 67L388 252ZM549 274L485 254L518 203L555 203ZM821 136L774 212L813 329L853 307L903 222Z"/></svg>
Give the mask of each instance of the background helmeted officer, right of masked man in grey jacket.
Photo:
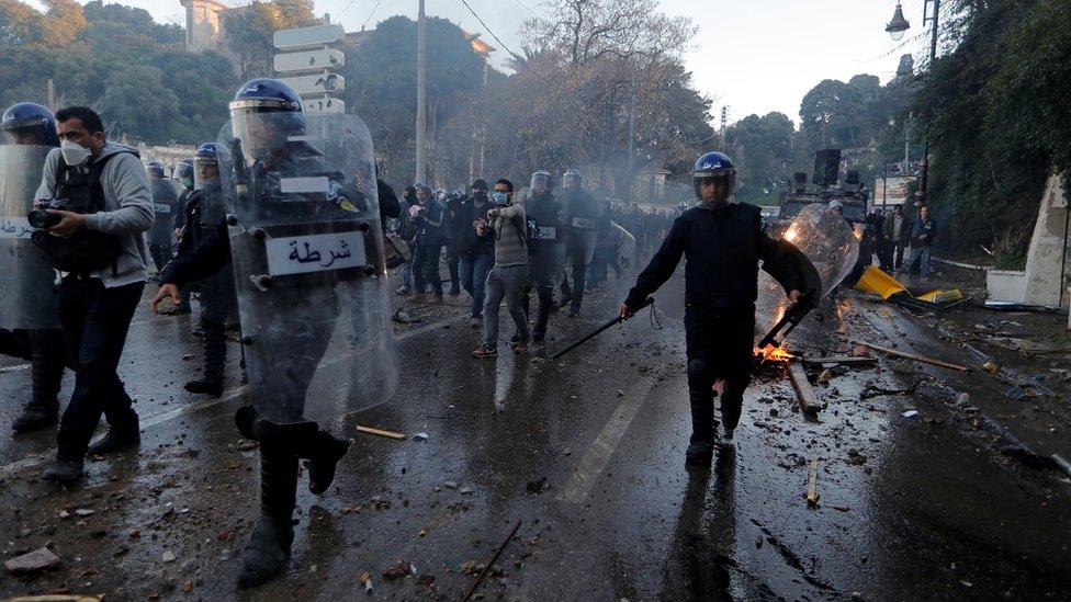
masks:
<svg viewBox="0 0 1071 602"><path fill-rule="evenodd" d="M562 307L570 305L570 317L580 313L584 300L584 287L587 283L587 270L595 257L595 245L599 236L599 219L602 208L589 192L580 186L580 172L571 169L562 175L562 191L565 202L565 215L568 224L568 240L566 242L566 262L573 268L573 282L568 274L562 283Z"/></svg>

